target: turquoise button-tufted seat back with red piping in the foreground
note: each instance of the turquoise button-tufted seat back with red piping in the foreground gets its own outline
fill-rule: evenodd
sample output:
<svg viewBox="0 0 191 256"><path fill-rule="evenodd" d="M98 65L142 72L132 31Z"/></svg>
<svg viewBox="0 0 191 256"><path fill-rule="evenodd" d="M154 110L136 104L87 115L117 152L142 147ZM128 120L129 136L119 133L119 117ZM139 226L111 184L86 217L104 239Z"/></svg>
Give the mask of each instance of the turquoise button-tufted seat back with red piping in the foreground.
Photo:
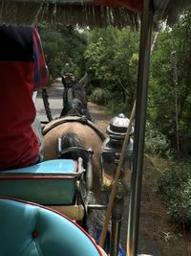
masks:
<svg viewBox="0 0 191 256"><path fill-rule="evenodd" d="M1 256L102 256L70 219L26 201L0 198Z"/></svg>

